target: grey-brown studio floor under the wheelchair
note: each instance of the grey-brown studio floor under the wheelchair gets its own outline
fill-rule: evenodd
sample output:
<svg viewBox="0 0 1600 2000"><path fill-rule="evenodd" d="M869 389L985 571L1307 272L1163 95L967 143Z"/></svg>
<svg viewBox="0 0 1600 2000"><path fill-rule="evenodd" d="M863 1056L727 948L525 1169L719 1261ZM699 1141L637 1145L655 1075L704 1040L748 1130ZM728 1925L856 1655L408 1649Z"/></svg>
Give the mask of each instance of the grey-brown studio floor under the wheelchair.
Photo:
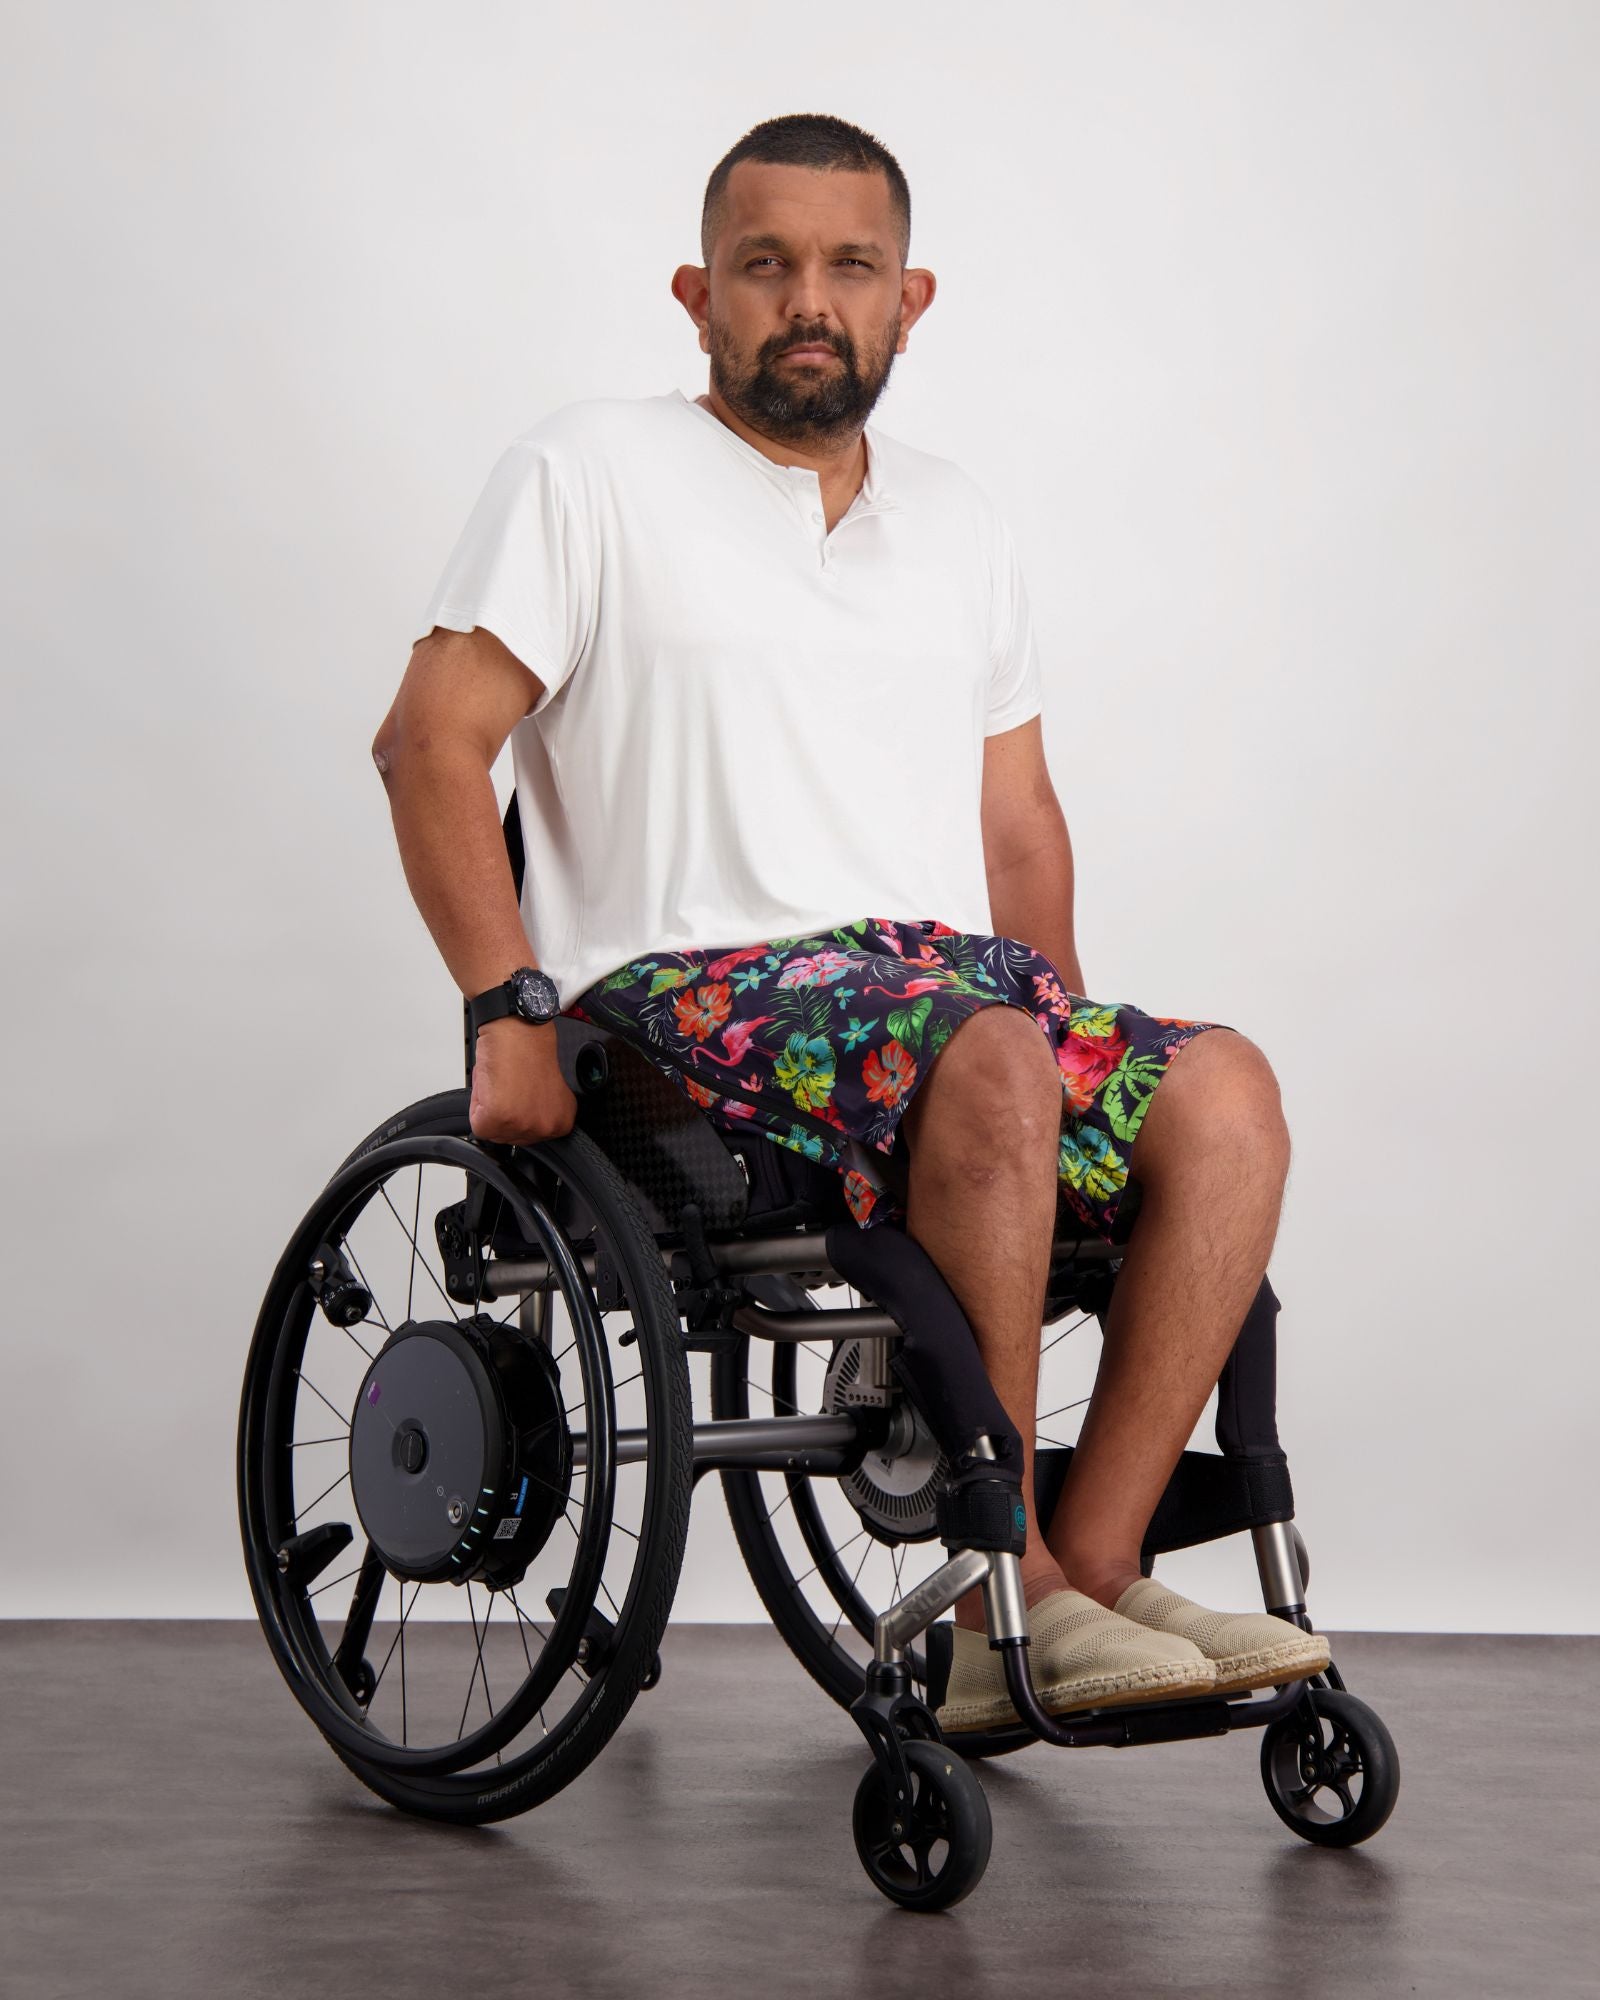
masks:
<svg viewBox="0 0 1600 2000"><path fill-rule="evenodd" d="M682 1626L536 1812L366 1792L254 1624L0 1624L0 1992L1596 1994L1600 1640L1352 1636L1400 1804L1324 1852L1254 1732L982 1766L994 1858L912 1916L850 1842L866 1752L764 1626Z"/></svg>

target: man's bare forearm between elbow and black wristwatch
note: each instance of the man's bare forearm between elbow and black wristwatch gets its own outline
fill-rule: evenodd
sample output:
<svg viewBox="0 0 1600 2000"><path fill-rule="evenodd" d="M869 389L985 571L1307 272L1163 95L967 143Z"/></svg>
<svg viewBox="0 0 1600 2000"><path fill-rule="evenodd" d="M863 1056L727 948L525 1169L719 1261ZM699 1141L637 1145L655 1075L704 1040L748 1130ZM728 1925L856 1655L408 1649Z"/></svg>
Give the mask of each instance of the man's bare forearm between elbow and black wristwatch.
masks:
<svg viewBox="0 0 1600 2000"><path fill-rule="evenodd" d="M494 782L464 744L386 746L380 762L400 866L462 994L536 964L516 902Z"/></svg>

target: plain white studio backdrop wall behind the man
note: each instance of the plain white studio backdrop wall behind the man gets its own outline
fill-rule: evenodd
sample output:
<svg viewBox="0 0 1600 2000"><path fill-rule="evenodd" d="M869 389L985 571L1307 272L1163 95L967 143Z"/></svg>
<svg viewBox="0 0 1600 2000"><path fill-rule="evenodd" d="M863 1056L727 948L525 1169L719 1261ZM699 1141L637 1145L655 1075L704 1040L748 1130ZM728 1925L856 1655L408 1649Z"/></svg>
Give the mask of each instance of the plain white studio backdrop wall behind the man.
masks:
<svg viewBox="0 0 1600 2000"><path fill-rule="evenodd" d="M0 1612L248 1614L260 1292L458 1080L368 742L500 448L706 386L706 176L826 110L940 278L876 420L1018 536L1086 984L1282 1080L1320 1622L1596 1630L1600 14L8 16ZM678 1616L758 1614L706 1482Z"/></svg>

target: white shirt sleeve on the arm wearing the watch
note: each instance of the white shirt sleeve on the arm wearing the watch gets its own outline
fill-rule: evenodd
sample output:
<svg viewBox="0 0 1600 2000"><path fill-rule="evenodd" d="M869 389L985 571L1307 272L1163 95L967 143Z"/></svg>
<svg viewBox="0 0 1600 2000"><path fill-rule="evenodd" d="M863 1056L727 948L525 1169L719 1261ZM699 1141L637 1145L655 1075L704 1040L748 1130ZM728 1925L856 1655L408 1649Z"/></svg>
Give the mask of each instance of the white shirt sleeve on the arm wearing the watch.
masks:
<svg viewBox="0 0 1600 2000"><path fill-rule="evenodd" d="M518 438L494 464L422 614L434 626L486 626L544 682L540 714L582 658L590 562L566 480L538 440Z"/></svg>

